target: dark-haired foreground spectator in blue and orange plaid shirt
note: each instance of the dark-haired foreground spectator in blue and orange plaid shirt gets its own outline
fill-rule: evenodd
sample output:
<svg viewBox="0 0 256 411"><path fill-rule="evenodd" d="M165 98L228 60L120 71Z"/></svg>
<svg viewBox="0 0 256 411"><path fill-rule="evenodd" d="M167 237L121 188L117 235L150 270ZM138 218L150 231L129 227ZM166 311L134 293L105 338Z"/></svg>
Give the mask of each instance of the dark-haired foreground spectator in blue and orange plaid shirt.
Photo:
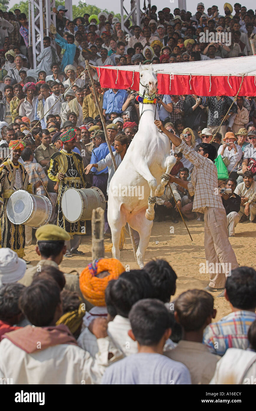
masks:
<svg viewBox="0 0 256 411"><path fill-rule="evenodd" d="M228 348L247 349L247 332L256 319L256 271L251 267L238 267L227 277L226 300L231 313L208 325L203 343L212 353L223 356Z"/></svg>

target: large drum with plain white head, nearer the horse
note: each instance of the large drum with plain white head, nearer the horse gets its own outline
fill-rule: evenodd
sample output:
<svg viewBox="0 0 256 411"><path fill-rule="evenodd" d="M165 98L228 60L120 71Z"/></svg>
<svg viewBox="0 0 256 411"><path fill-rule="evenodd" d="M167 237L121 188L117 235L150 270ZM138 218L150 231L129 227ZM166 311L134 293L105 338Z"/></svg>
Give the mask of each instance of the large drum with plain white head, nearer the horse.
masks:
<svg viewBox="0 0 256 411"><path fill-rule="evenodd" d="M61 199L62 213L70 223L91 220L92 210L97 207L106 208L104 194L98 187L68 188Z"/></svg>

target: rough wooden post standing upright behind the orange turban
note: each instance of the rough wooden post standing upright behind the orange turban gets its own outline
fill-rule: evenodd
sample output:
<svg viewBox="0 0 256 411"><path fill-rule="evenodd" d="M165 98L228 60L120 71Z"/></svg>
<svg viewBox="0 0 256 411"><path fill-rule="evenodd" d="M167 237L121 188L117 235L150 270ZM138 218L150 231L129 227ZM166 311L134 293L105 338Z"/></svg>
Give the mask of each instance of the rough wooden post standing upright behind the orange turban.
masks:
<svg viewBox="0 0 256 411"><path fill-rule="evenodd" d="M104 248L104 210L92 210L92 261L105 257Z"/></svg>

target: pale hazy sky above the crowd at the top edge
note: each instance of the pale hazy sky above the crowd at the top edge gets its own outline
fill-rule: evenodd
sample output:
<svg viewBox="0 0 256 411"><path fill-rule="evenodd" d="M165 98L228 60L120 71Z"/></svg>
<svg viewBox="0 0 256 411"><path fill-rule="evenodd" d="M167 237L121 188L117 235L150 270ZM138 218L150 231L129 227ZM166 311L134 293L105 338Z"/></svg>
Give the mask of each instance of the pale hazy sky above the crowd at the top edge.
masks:
<svg viewBox="0 0 256 411"><path fill-rule="evenodd" d="M78 4L79 0L74 0L73 4ZM223 11L223 5L224 5L224 1L220 1L220 0L213 0L212 1L203 1L204 5L205 5L205 11L207 12L207 8L211 7L213 4L217 5L219 7L219 12L220 14L224 14ZM198 0L199 2L199 0ZM189 10L192 14L193 12L196 12L196 5L198 3L195 0L187 0L187 10ZM233 6L235 4L236 1L231 2L231 5ZM12 7L14 4L18 3L17 0L10 0L9 2L9 7ZM100 9L104 9L107 5L107 9L109 10L113 10L115 13L120 13L120 2L118 0L110 0L109 2L106 2L106 0L87 0L86 1L87 4L93 4L97 7L99 7ZM245 5L247 7L247 9L253 9L255 11L255 7L256 7L256 3L254 0L246 0L245 2L240 2L242 5ZM141 0L141 8L143 7L144 1ZM163 9L164 7L170 7L171 12L173 12L173 9L175 9L175 7L178 7L178 0L152 0L151 4L155 4L157 5L157 9ZM124 5L127 9L127 11L130 10L130 1L129 0L125 0Z"/></svg>

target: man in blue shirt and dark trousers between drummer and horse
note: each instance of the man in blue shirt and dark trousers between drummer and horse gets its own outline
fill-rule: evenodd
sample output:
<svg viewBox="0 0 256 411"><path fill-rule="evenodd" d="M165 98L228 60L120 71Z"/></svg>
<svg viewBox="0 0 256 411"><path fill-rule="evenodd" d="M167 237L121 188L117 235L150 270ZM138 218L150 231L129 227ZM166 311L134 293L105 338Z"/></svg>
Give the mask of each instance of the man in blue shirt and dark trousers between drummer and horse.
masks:
<svg viewBox="0 0 256 411"><path fill-rule="evenodd" d="M96 148L92 150L92 157L90 164L98 163L100 160L105 159L109 153L108 145L106 143L105 134L101 130L97 130L94 133L95 137L95 145ZM114 147L111 145L112 151L115 151ZM95 167L92 167L92 185L94 187L98 187L104 194L105 199L108 199L107 195L107 185L108 185L108 167L105 167L103 170L98 171ZM108 218L107 218L107 203L106 203L106 210L104 213L105 217L105 225L104 225L104 234L110 234L110 228L108 226Z"/></svg>

